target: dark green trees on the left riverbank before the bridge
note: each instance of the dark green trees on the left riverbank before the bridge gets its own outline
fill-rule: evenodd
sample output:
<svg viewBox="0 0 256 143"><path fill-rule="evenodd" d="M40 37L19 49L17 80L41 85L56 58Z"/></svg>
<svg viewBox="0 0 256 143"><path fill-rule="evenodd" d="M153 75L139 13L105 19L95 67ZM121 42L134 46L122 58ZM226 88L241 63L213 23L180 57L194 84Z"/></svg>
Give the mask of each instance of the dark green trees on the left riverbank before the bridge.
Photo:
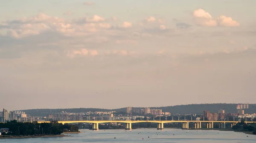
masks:
<svg viewBox="0 0 256 143"><path fill-rule="evenodd" d="M79 132L78 126L58 123L17 122L16 120L7 123L0 123L0 128L8 128L7 135L60 135L63 131ZM3 133L2 135L6 135Z"/></svg>

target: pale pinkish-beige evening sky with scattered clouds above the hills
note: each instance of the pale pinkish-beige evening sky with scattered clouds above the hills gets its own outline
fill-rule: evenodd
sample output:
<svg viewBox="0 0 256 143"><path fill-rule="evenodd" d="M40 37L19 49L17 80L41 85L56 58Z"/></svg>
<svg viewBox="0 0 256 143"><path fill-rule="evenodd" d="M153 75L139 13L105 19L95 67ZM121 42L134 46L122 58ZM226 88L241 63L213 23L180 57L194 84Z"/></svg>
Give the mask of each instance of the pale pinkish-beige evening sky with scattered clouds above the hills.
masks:
<svg viewBox="0 0 256 143"><path fill-rule="evenodd" d="M0 108L255 103L255 6L2 0Z"/></svg>

